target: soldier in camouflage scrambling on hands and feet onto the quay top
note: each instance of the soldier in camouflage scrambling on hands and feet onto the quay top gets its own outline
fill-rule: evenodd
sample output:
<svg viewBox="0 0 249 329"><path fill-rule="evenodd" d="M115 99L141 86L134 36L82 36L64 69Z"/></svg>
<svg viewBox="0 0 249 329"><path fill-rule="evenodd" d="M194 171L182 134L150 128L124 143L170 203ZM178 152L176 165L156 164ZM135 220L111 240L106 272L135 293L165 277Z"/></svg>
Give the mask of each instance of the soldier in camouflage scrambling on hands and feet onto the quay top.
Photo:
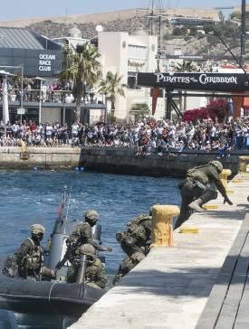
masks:
<svg viewBox="0 0 249 329"><path fill-rule="evenodd" d="M192 211L204 211L202 205L217 198L217 192L209 187L210 183L215 183L217 190L224 197L224 203L233 204L229 200L219 177L222 170L223 165L214 160L187 171L186 180L179 185L182 202L175 229L188 220Z"/></svg>

